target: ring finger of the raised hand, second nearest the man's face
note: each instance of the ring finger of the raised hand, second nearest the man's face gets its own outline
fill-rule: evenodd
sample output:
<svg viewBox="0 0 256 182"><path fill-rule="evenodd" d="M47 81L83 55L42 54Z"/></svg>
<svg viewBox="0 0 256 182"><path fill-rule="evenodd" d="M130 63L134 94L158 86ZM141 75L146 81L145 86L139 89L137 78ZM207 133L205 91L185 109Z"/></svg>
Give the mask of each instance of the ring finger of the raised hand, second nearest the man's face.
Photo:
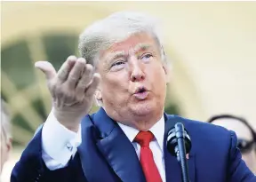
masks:
<svg viewBox="0 0 256 182"><path fill-rule="evenodd" d="M84 91L89 83L92 81L93 67L90 64L85 65L84 74L76 85L76 91L84 95Z"/></svg>

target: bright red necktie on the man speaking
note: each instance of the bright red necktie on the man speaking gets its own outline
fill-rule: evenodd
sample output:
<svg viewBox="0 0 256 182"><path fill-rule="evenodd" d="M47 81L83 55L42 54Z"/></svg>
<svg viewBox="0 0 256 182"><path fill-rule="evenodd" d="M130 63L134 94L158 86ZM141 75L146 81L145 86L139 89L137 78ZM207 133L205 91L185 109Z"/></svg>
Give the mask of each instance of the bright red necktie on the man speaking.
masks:
<svg viewBox="0 0 256 182"><path fill-rule="evenodd" d="M162 182L159 171L156 168L149 142L154 135L150 131L140 131L134 141L140 144L140 164L147 182Z"/></svg>

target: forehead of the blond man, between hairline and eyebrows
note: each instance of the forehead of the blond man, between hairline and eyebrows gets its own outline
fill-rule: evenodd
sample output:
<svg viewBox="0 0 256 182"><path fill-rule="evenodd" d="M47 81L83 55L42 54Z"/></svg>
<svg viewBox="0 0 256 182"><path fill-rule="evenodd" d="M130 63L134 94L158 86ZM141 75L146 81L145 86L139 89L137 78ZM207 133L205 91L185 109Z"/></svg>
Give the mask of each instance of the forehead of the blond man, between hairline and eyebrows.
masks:
<svg viewBox="0 0 256 182"><path fill-rule="evenodd" d="M139 33L129 36L124 41L112 44L108 50L104 51L104 55L108 53L130 51L144 51L144 50L157 50L156 39L146 33Z"/></svg>

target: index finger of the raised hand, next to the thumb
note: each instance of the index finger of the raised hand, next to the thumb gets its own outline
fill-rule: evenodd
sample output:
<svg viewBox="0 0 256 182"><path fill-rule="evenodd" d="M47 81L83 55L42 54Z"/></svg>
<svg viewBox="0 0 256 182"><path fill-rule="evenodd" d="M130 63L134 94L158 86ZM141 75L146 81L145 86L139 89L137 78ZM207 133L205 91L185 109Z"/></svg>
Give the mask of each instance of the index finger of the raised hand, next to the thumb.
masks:
<svg viewBox="0 0 256 182"><path fill-rule="evenodd" d="M61 83L65 82L68 78L68 74L72 67L74 67L76 63L76 56L69 56L68 59L63 63L58 71L58 78Z"/></svg>

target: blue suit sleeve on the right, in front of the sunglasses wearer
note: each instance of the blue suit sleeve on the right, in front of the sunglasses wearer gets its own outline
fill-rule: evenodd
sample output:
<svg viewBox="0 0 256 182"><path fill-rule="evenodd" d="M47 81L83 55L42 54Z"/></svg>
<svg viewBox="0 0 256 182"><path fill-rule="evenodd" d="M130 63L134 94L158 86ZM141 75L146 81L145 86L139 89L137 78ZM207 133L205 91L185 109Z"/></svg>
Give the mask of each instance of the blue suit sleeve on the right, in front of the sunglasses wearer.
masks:
<svg viewBox="0 0 256 182"><path fill-rule="evenodd" d="M230 145L228 154L229 182L256 182L256 176L246 166L242 154L237 146L236 133L230 131Z"/></svg>

